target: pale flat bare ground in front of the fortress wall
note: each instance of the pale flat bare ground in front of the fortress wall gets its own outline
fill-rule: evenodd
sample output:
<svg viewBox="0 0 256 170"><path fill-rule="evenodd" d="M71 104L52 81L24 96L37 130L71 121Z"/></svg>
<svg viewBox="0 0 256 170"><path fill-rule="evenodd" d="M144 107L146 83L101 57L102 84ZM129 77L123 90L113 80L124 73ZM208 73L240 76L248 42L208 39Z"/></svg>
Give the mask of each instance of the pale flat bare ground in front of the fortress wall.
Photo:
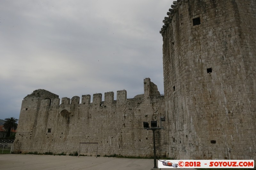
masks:
<svg viewBox="0 0 256 170"><path fill-rule="evenodd" d="M53 156L1 154L0 169L2 170L150 170L154 167L153 159L124 159L85 156ZM170 169L170 168L164 168ZM192 169L190 169L192 170Z"/></svg>

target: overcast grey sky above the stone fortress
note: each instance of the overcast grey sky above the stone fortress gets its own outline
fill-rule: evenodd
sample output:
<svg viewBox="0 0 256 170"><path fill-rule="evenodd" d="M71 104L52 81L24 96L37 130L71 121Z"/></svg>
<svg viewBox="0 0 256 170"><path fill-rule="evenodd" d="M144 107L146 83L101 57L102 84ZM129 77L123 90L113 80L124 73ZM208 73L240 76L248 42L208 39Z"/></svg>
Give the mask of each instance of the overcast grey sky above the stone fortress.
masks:
<svg viewBox="0 0 256 170"><path fill-rule="evenodd" d="M1 0L0 119L19 118L36 89L62 97L163 87L162 36L170 0ZM102 98L104 100L104 97Z"/></svg>

